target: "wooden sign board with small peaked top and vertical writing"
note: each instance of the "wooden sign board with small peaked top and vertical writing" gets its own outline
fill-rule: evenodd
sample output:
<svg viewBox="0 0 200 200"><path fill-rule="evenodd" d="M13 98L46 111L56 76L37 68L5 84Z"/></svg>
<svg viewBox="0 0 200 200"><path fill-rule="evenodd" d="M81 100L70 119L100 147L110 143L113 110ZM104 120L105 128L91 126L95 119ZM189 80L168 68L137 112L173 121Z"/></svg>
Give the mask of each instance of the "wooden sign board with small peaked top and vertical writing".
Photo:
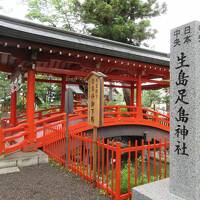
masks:
<svg viewBox="0 0 200 200"><path fill-rule="evenodd" d="M88 123L94 127L103 125L104 78L101 72L91 72L88 80Z"/></svg>

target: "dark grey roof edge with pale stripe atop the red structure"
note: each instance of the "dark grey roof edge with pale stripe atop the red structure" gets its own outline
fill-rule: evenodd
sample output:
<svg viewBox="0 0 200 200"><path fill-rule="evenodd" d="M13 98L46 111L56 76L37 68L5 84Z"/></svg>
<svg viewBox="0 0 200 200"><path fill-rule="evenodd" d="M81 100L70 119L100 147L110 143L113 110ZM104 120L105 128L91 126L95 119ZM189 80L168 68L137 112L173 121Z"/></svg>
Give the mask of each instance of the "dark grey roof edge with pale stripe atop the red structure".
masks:
<svg viewBox="0 0 200 200"><path fill-rule="evenodd" d="M0 36L169 67L169 54L0 15Z"/></svg>

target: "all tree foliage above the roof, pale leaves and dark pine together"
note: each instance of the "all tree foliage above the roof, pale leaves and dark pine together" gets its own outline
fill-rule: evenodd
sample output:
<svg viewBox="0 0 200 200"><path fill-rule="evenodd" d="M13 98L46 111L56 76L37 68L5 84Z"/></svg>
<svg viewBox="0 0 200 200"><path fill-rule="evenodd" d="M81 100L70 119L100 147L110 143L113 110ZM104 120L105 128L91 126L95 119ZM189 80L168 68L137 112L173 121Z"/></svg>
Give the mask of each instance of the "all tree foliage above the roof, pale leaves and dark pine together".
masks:
<svg viewBox="0 0 200 200"><path fill-rule="evenodd" d="M157 0L25 1L29 19L137 46L154 38L150 19L166 12Z"/></svg>

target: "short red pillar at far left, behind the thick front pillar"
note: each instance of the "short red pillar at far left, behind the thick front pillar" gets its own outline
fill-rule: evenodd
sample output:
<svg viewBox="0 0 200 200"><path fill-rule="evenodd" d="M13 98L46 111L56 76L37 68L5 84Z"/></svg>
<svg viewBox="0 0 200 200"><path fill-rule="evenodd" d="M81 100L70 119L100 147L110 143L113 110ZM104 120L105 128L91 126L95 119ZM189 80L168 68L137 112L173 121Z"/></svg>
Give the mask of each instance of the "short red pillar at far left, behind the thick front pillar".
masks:
<svg viewBox="0 0 200 200"><path fill-rule="evenodd" d="M15 126L17 122L17 92L14 91L11 93L10 99L10 124Z"/></svg>

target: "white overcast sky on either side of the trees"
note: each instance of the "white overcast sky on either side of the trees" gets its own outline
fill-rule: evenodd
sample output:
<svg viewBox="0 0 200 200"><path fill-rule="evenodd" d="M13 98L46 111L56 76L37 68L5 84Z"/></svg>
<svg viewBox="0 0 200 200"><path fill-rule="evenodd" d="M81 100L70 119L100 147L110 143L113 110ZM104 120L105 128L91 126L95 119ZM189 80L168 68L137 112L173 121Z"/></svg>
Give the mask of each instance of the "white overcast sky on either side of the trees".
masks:
<svg viewBox="0 0 200 200"><path fill-rule="evenodd" d="M158 2L166 2L167 13L152 18L152 28L157 29L158 33L155 39L147 43L150 49L169 53L170 30L194 20L200 21L200 0L158 0ZM25 19L27 7L23 0L0 0L0 7L4 8L0 14Z"/></svg>

